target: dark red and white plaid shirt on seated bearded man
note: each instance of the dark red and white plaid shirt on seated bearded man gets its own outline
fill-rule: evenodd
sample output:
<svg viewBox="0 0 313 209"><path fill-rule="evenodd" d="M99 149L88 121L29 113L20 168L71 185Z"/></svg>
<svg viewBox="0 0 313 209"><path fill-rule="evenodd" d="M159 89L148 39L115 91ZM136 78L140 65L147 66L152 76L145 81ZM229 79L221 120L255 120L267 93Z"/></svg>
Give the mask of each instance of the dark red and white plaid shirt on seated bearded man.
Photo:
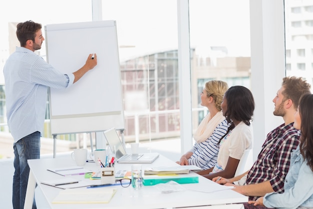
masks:
<svg viewBox="0 0 313 209"><path fill-rule="evenodd" d="M275 192L284 191L284 178L289 170L290 154L296 149L300 136L293 123L281 124L267 134L262 150L249 170L246 184L261 183L269 180ZM256 200L258 196L249 196Z"/></svg>

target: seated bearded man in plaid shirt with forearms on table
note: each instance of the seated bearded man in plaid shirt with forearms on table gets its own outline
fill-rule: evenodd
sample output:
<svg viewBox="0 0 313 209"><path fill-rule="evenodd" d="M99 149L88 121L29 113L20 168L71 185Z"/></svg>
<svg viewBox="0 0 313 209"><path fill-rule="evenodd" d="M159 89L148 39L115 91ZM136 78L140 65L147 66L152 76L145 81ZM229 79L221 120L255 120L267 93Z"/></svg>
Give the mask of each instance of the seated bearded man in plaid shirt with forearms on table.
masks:
<svg viewBox="0 0 313 209"><path fill-rule="evenodd" d="M246 180L243 180L244 185L234 185L233 190L249 196L249 200L256 200L273 191L282 193L284 178L289 169L290 154L296 149L300 138L297 129L293 127L294 113L300 97L307 93L310 93L310 85L301 78L283 78L281 88L273 99L275 105L273 114L281 116L284 123L267 134L250 170L230 179L221 178L217 181L215 177L212 180L233 186L227 183L238 180L240 182L242 177L246 177Z"/></svg>

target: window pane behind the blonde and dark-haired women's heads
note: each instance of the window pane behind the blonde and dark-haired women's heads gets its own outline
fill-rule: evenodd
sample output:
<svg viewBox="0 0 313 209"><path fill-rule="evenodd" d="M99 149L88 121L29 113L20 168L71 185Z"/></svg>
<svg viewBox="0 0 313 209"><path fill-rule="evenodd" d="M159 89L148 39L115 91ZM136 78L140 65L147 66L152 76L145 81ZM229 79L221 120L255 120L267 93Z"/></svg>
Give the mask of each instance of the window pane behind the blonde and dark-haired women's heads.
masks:
<svg viewBox="0 0 313 209"><path fill-rule="evenodd" d="M192 108L201 107L199 95L209 80L250 88L249 1L190 0L189 14ZM203 111L192 117L195 129Z"/></svg>

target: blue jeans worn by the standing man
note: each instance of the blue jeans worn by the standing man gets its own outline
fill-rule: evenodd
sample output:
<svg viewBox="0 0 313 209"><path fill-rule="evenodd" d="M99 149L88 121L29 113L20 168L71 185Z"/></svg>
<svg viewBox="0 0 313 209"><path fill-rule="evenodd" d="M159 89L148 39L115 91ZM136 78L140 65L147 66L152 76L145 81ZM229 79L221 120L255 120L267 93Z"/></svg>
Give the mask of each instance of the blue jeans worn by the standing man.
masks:
<svg viewBox="0 0 313 209"><path fill-rule="evenodd" d="M14 149L14 175L12 203L14 209L23 209L27 189L29 167L27 159L40 158L40 132L36 131L19 139L13 144ZM36 209L33 198L32 209Z"/></svg>

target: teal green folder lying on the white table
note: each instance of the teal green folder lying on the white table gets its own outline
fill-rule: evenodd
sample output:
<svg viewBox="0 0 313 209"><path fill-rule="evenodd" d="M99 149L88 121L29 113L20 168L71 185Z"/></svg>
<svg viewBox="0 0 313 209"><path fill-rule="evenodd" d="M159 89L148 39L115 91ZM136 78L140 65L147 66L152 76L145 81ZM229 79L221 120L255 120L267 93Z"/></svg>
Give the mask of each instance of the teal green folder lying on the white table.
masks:
<svg viewBox="0 0 313 209"><path fill-rule="evenodd" d="M198 183L198 176L157 176L157 175L145 175L142 183L145 186L155 185L158 183L166 183L168 181L175 181L177 183Z"/></svg>

